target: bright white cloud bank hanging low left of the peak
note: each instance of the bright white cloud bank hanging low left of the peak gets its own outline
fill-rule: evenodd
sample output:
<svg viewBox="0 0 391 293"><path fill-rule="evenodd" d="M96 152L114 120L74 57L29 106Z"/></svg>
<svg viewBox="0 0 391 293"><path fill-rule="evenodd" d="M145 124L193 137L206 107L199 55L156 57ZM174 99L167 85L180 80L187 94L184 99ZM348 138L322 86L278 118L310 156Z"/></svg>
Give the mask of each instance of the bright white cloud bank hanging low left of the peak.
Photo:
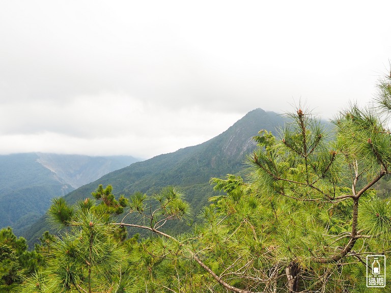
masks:
<svg viewBox="0 0 391 293"><path fill-rule="evenodd" d="M62 106L38 102L7 105L0 116L0 135L6 141L0 144L1 154L57 152L150 158L206 141L241 118L237 113L194 107L171 109L124 95L80 96Z"/></svg>

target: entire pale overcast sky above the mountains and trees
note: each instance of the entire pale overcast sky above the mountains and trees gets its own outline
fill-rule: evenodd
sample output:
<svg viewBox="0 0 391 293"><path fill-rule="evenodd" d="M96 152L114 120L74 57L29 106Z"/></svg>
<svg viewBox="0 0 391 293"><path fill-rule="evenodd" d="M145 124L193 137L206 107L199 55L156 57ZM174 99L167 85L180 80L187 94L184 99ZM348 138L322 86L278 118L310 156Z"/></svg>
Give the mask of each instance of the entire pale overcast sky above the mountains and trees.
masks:
<svg viewBox="0 0 391 293"><path fill-rule="evenodd" d="M391 1L1 1L0 154L150 158L263 108L365 104Z"/></svg>

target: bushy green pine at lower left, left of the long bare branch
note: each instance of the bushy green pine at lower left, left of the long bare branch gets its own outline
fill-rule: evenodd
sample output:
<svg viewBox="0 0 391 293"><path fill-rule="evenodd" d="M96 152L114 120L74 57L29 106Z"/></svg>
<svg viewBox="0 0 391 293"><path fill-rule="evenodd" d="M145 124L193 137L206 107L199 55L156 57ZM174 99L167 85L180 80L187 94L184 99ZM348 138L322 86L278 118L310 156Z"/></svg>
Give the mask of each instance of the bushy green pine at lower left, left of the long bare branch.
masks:
<svg viewBox="0 0 391 293"><path fill-rule="evenodd" d="M122 241L126 235L123 228L109 224L116 204L111 187L98 190L102 191L98 198L103 205L85 200L71 208L64 199L53 201L52 221L68 229L61 237L48 232L43 235L42 244L36 246L45 256L42 267L16 292L126 291L134 279L125 275L128 256Z"/></svg>

